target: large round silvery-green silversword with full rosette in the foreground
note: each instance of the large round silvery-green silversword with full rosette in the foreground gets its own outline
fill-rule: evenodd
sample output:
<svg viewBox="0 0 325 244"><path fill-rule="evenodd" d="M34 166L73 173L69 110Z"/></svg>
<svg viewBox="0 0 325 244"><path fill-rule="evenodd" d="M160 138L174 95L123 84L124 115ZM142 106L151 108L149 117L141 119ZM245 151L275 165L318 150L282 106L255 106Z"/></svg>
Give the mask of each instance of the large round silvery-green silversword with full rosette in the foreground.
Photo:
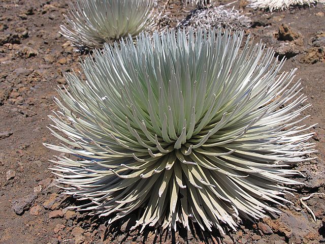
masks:
<svg viewBox="0 0 325 244"><path fill-rule="evenodd" d="M221 232L239 218L277 213L289 202L289 166L309 160L313 133L298 126L310 105L292 84L295 70L248 41L243 32L169 31L105 45L82 63L85 80L69 88L50 116L53 169L78 206L113 222L140 210L134 228L154 226ZM63 134L59 134L59 131ZM303 132L303 133L301 133ZM70 145L70 146L67 146Z"/></svg>

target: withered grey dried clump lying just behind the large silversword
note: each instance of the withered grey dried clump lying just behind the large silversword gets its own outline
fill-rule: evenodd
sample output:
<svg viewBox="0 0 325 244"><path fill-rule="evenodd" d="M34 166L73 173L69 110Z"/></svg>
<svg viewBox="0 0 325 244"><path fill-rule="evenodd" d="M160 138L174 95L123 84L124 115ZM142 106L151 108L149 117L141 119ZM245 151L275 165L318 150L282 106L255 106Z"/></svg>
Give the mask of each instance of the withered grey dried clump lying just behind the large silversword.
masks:
<svg viewBox="0 0 325 244"><path fill-rule="evenodd" d="M218 6L192 10L189 16L178 24L178 27L209 29L221 26L223 28L245 29L249 28L250 25L251 20L238 10Z"/></svg>

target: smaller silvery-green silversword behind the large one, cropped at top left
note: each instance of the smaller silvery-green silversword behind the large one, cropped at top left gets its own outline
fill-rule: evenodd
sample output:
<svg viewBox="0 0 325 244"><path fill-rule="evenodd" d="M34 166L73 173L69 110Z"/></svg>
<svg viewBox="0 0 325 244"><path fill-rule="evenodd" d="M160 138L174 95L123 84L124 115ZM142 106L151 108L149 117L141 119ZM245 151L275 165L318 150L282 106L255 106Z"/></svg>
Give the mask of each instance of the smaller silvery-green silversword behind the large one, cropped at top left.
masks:
<svg viewBox="0 0 325 244"><path fill-rule="evenodd" d="M153 0L74 0L61 34L80 49L103 47L154 26Z"/></svg>

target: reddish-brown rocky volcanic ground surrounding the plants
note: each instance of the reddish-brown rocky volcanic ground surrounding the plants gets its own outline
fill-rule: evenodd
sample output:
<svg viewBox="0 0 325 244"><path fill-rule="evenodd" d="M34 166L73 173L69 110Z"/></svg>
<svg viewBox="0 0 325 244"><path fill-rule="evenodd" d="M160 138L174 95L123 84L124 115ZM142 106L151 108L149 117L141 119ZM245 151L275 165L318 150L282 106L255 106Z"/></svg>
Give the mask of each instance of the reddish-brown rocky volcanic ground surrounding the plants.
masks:
<svg viewBox="0 0 325 244"><path fill-rule="evenodd" d="M166 23L175 25L175 18L180 20L188 12L169 2ZM55 88L65 83L64 72L80 70L78 57L86 55L75 52L58 34L67 3L0 0L0 243L325 242L325 5L273 13L249 9L245 1L232 5L252 20L245 32L254 42L262 40L277 55L288 58L283 71L298 68L296 79L301 79L312 104L304 111L303 115L311 115L305 123L318 123L311 139L317 143L313 156L318 158L297 165L306 176L297 180L306 185L295 188L294 196L288 197L293 205L281 208L280 217L243 222L237 232L220 237L216 230L210 234L196 225L170 236L155 235L152 229L128 232L135 215L107 226L104 219L67 209L74 199L61 195L53 185L52 163L47 160L55 152L42 145L58 143L46 128L47 115L56 109ZM308 198L303 203L316 221L300 201L302 197Z"/></svg>

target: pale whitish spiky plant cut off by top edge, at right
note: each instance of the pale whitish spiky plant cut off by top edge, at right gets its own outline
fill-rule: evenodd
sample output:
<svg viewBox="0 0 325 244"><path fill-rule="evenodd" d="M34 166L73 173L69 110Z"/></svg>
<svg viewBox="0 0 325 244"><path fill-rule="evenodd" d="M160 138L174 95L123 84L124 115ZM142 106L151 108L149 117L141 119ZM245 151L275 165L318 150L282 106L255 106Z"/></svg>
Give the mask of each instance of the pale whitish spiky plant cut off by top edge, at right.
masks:
<svg viewBox="0 0 325 244"><path fill-rule="evenodd" d="M284 10L290 6L316 4L317 0L249 0L249 7L253 9Z"/></svg>

